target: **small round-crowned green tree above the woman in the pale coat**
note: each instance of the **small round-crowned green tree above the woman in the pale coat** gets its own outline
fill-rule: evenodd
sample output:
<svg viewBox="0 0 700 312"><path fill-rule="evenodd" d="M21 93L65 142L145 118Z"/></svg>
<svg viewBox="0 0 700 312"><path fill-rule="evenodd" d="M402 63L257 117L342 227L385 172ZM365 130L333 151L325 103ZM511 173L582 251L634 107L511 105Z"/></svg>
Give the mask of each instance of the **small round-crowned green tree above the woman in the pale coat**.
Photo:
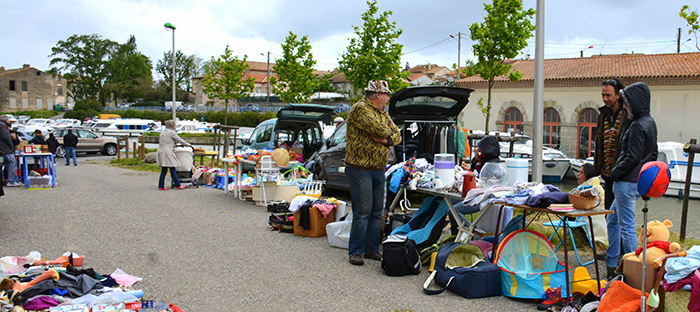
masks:
<svg viewBox="0 0 700 312"><path fill-rule="evenodd" d="M226 103L224 124L228 124L228 101L233 99L234 107L238 110L238 100L248 96L255 88L255 79L246 76L248 63L247 55L243 55L243 60L238 60L238 56L233 56L233 51L228 48L224 50L218 59L211 58L211 64L206 68L206 74L202 81L202 90L209 98L218 98Z"/></svg>

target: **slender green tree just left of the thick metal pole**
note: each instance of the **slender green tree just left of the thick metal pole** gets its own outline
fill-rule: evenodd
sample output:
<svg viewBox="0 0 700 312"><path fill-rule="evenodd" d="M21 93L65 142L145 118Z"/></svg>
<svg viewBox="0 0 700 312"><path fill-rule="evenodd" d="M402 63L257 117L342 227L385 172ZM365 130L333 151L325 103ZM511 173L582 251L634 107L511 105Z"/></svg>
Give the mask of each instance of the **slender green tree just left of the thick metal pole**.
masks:
<svg viewBox="0 0 700 312"><path fill-rule="evenodd" d="M512 65L504 61L518 56L527 47L526 40L532 37L535 30L530 23L535 10L523 10L522 0L494 0L492 5L484 4L484 9L488 13L484 22L469 27L470 38L475 42L472 49L477 62L464 69L464 73L466 76L478 74L488 82L486 107L482 100L478 104L486 117L485 131L488 133L494 78L508 74L508 79L518 81L523 77L519 71L511 71Z"/></svg>

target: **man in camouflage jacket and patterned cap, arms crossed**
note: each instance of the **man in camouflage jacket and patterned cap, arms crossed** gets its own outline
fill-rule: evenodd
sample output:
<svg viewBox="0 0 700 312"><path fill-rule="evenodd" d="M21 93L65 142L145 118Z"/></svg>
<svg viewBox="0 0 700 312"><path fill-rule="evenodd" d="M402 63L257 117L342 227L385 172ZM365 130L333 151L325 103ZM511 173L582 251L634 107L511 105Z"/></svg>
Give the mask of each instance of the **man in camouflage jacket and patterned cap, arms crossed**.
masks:
<svg viewBox="0 0 700 312"><path fill-rule="evenodd" d="M348 261L352 265L363 265L363 255L382 259L379 242L386 200L384 167L390 147L401 142L399 128L384 110L390 94L386 81L371 80L365 96L348 113L345 174L352 200L348 243Z"/></svg>

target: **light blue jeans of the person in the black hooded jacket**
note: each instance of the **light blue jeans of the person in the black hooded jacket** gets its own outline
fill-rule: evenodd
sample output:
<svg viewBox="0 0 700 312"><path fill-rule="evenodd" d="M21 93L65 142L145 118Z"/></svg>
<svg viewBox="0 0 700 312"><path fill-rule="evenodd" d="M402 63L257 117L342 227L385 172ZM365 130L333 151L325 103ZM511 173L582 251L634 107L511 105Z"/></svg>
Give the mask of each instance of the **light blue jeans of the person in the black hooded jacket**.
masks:
<svg viewBox="0 0 700 312"><path fill-rule="evenodd" d="M613 183L615 200L610 210L608 221L608 251L605 252L605 265L617 267L617 259L621 254L633 252L637 249L637 232L634 229L634 209L637 206L639 192L637 183L615 182ZM622 251L620 251L620 239L622 239Z"/></svg>

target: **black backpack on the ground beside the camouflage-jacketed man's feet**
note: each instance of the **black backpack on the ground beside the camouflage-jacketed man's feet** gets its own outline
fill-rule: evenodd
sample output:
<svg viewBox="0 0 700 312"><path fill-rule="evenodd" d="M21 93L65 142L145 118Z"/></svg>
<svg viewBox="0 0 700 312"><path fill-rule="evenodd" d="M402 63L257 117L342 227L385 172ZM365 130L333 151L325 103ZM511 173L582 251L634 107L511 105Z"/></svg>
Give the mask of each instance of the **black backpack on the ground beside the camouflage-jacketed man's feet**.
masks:
<svg viewBox="0 0 700 312"><path fill-rule="evenodd" d="M416 242L406 235L391 235L382 243L382 269L389 276L416 275L423 263Z"/></svg>

